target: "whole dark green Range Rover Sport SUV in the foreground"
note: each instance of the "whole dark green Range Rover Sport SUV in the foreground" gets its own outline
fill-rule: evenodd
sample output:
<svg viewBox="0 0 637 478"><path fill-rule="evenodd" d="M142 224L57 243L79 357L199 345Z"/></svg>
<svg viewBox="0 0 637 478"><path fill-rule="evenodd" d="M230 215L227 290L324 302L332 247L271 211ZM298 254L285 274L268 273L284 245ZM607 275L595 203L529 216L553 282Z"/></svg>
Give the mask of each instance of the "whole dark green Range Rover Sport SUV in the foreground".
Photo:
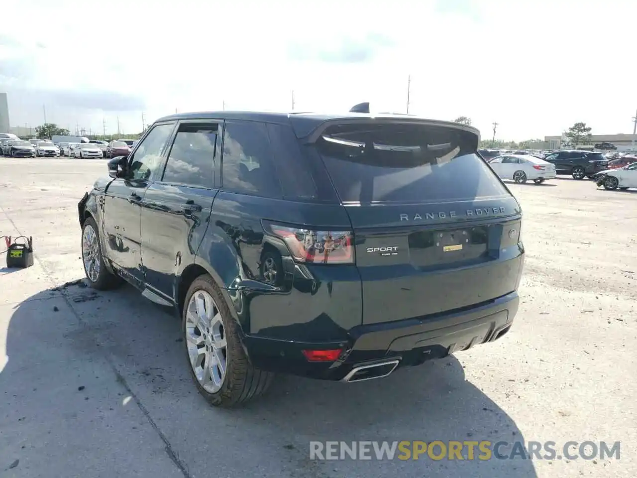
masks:
<svg viewBox="0 0 637 478"><path fill-rule="evenodd" d="M213 405L274 373L356 382L512 326L522 211L455 122L180 113L78 204L90 286L174 307Z"/></svg>

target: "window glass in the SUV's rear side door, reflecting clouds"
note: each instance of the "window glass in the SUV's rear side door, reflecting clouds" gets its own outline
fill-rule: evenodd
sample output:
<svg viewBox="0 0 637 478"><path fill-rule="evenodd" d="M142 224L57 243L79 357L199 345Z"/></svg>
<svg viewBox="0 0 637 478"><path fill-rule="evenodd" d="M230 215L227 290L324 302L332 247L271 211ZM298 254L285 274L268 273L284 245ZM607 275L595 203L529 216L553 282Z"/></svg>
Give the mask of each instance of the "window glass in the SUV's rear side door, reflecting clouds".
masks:
<svg viewBox="0 0 637 478"><path fill-rule="evenodd" d="M168 155L163 182L213 187L213 158L218 125L185 123L179 126Z"/></svg>

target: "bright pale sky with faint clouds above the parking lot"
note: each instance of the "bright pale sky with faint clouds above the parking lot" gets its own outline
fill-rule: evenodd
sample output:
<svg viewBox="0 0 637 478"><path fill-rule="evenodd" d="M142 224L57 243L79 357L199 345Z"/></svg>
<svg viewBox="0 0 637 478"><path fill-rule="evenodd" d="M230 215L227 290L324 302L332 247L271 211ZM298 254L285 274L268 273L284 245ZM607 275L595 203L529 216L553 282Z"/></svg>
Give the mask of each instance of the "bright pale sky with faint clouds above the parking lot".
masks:
<svg viewBox="0 0 637 478"><path fill-rule="evenodd" d="M136 133L178 112L471 118L522 141L632 133L627 0L3 0L11 126ZM15 18L7 21L7 18ZM408 81L410 78L410 81ZM294 92L294 94L292 94ZM105 127L104 127L105 125Z"/></svg>

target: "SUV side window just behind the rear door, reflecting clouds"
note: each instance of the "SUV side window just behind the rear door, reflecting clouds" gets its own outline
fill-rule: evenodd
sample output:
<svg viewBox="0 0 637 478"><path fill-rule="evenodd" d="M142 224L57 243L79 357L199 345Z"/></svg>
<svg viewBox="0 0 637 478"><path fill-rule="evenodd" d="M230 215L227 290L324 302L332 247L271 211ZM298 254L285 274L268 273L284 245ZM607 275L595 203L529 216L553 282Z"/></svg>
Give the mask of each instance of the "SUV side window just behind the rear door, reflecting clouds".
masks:
<svg viewBox="0 0 637 478"><path fill-rule="evenodd" d="M272 148L264 123L225 123L221 182L227 191L281 198L281 186L272 161Z"/></svg>

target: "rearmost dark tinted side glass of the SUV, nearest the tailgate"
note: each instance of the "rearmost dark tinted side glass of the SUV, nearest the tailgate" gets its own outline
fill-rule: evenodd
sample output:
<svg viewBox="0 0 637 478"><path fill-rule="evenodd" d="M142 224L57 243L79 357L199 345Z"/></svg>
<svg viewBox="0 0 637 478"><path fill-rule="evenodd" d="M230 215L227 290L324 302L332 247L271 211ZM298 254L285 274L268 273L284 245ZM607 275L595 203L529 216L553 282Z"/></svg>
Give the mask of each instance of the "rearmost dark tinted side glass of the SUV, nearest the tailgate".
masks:
<svg viewBox="0 0 637 478"><path fill-rule="evenodd" d="M311 160L302 157L299 142L292 128L280 124L268 124L267 127L283 198L317 198L317 185L312 175Z"/></svg>

